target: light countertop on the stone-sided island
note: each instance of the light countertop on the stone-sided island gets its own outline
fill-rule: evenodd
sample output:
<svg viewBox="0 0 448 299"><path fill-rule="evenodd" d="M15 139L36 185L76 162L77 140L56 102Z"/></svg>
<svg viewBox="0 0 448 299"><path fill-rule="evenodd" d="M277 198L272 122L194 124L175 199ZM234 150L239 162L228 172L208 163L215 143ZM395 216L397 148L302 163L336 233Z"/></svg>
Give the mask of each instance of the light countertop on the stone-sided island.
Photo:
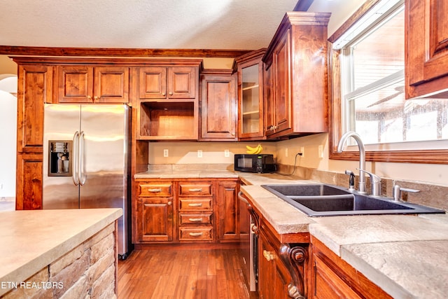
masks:
<svg viewBox="0 0 448 299"><path fill-rule="evenodd" d="M123 214L122 209L0 212L0 282L25 281ZM9 288L0 288L0 296Z"/></svg>

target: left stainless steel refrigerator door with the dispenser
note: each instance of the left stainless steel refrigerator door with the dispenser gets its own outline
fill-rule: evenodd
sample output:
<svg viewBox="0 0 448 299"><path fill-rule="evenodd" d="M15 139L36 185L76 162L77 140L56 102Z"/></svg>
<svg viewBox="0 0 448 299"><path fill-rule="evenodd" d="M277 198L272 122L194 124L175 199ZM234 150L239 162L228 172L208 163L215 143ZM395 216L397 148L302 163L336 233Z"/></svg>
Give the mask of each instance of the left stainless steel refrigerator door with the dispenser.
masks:
<svg viewBox="0 0 448 299"><path fill-rule="evenodd" d="M80 127L80 105L45 104L43 116L43 209L78 209L79 187L72 176L50 176L49 141L73 141ZM72 151L73 152L73 151ZM73 162L73 156L69 157ZM70 165L71 169L73 165Z"/></svg>

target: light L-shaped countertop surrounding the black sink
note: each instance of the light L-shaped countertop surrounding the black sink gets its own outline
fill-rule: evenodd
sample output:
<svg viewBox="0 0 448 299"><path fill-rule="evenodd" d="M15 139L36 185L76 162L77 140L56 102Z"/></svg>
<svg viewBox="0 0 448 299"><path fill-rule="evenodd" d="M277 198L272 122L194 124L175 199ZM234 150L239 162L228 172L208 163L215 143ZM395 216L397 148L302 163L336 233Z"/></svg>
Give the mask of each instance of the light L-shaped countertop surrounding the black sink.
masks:
<svg viewBox="0 0 448 299"><path fill-rule="evenodd" d="M152 172L140 174L139 178L183 178L181 173L160 176ZM394 298L447 297L447 214L311 218L260 185L318 183L316 181L295 180L278 174L189 173L204 178L236 175L247 185L241 186L241 190L279 234L309 232Z"/></svg>

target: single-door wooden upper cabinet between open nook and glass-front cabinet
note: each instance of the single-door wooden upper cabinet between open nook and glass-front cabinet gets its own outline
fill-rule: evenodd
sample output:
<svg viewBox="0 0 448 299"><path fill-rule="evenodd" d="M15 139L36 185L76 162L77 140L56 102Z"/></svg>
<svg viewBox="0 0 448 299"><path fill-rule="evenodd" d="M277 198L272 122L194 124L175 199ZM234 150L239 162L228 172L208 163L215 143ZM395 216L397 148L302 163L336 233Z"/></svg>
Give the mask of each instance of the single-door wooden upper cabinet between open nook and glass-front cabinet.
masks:
<svg viewBox="0 0 448 299"><path fill-rule="evenodd" d="M201 75L202 141L237 141L237 77L231 73Z"/></svg>

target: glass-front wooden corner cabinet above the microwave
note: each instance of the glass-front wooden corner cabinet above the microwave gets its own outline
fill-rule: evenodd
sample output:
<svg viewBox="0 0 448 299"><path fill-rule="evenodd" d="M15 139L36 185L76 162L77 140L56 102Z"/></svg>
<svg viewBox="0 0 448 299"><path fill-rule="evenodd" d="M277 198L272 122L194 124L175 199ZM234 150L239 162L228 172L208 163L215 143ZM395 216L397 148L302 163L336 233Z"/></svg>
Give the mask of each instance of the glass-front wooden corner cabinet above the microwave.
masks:
<svg viewBox="0 0 448 299"><path fill-rule="evenodd" d="M261 49L235 60L238 71L239 139L251 140L263 138L263 78L261 58L264 54L265 49Z"/></svg>

